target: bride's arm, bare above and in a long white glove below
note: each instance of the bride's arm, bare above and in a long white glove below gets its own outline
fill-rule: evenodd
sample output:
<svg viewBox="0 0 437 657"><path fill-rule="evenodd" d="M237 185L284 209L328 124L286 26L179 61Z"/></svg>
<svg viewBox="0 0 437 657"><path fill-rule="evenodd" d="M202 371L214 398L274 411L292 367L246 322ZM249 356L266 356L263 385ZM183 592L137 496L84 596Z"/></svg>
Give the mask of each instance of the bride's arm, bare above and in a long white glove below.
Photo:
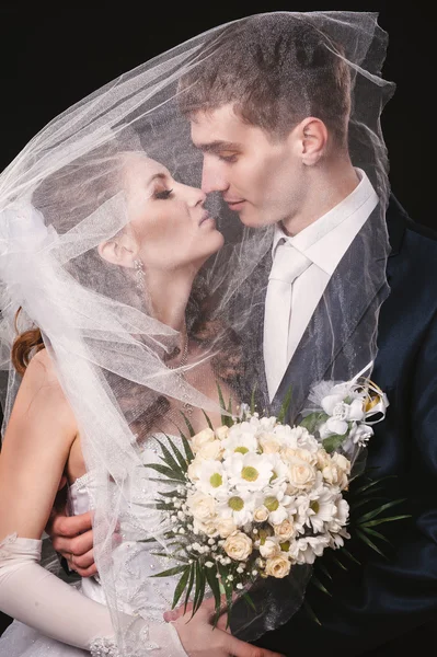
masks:
<svg viewBox="0 0 437 657"><path fill-rule="evenodd" d="M100 655L100 639L114 638L108 609L39 565L39 539L76 434L42 351L24 374L0 454L0 609L64 643L84 649L94 644ZM173 627L163 624L154 634L165 655L185 656Z"/></svg>

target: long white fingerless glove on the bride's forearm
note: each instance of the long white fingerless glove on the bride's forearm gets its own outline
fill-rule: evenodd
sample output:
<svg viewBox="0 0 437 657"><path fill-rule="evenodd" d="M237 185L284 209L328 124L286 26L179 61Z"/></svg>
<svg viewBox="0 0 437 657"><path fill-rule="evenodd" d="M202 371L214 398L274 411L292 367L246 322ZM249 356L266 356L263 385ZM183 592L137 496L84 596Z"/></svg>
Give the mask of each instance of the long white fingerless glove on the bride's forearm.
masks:
<svg viewBox="0 0 437 657"><path fill-rule="evenodd" d="M91 650L95 657L117 657L115 632L107 607L39 565L42 541L8 537L0 543L0 609L42 634ZM150 623L126 614L143 635L141 656L159 646L165 657L186 657L171 623ZM137 657L129 655L126 657Z"/></svg>

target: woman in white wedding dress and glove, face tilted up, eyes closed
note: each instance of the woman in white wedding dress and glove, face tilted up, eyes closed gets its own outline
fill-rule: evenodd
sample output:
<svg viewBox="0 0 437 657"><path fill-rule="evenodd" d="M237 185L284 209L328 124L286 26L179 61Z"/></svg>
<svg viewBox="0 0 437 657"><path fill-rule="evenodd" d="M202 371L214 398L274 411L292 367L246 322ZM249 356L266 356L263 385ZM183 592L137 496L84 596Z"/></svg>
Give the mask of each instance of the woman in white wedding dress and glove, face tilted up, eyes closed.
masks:
<svg viewBox="0 0 437 657"><path fill-rule="evenodd" d="M0 608L18 621L0 655L269 656L212 632L209 601L189 623L189 613L163 622L174 581L150 578L163 568L141 541L165 544L159 514L143 504L159 485L142 468L158 460L152 437L177 434L182 413L194 430L204 410L220 424L217 382L237 397L239 345L230 326L208 324L204 265L223 237L205 195L128 149L124 135L47 166L32 194L1 212L2 341L12 356ZM94 514L100 575L79 587L39 565L66 480L71 515Z"/></svg>

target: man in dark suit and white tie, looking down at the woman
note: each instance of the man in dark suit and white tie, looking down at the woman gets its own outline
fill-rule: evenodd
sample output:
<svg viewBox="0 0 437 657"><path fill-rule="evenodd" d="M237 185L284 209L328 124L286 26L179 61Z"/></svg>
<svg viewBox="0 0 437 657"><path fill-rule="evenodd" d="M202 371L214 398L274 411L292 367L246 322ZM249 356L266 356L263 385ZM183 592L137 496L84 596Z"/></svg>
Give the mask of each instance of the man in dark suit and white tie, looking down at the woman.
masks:
<svg viewBox="0 0 437 657"><path fill-rule="evenodd" d="M437 242L390 199L388 296L378 268L378 256L384 260L383 235L370 239L379 226L380 206L369 180L377 180L377 172L356 169L348 150L347 71L326 48L317 47L311 56L315 36L303 22L290 27L284 19L280 28L266 25L271 58L262 31L263 57L256 56L251 21L235 26L235 38L231 27L222 58L215 53L204 69L196 68L196 83L185 95L193 141L204 152L204 191L220 192L245 226L275 227L266 256L265 318L254 345L264 353L265 371L260 357L250 358L248 367L260 366L251 376L265 377L266 401L274 405L292 384L296 411L308 393L306 372L309 381L318 371L321 378L343 378L348 338L359 344L360 331L368 335L366 322L382 302L372 378L387 392L390 407L370 440L368 465L377 477L393 476L384 493L406 498L402 512L412 519L391 527L387 562L369 550L359 568L335 573L332 598L308 588L321 625L302 609L257 643L290 656L353 656L378 647L389 655L387 642L437 612ZM301 100L310 102L310 113L299 106ZM364 252L368 243L377 251ZM296 265L295 272L287 263ZM276 278L271 268L279 270ZM358 281L357 272L366 273ZM291 295L280 297L277 279L288 280ZM327 342L320 345L321 338ZM330 358L321 362L314 353ZM370 351L361 355L363 366L368 357ZM80 554L81 540L70 550L68 539L58 537L55 546ZM74 563L92 568L92 553Z"/></svg>

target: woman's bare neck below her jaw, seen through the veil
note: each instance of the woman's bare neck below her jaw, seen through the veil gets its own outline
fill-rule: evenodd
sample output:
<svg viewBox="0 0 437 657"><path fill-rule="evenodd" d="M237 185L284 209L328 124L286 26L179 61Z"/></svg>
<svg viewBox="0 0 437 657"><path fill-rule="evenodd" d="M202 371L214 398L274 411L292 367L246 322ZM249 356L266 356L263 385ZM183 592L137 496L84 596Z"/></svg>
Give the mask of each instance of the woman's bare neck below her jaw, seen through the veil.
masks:
<svg viewBox="0 0 437 657"><path fill-rule="evenodd" d="M147 293L153 316L175 331L185 327L185 310L196 272L148 272Z"/></svg>

